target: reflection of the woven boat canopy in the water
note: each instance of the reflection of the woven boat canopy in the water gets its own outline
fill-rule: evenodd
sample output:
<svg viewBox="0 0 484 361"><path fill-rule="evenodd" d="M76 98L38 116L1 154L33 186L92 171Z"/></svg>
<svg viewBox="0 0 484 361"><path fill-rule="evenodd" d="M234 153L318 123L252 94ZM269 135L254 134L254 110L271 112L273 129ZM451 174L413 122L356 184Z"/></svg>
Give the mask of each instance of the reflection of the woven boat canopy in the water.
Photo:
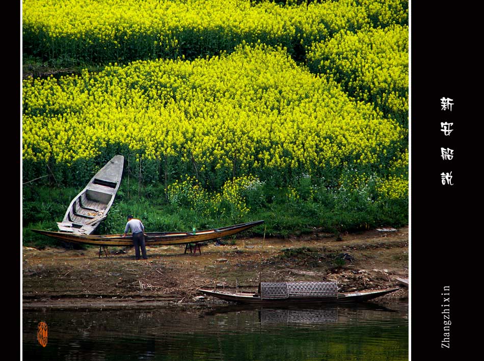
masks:
<svg viewBox="0 0 484 361"><path fill-rule="evenodd" d="M328 310L260 310L261 324L277 323L331 323L338 321L338 308Z"/></svg>

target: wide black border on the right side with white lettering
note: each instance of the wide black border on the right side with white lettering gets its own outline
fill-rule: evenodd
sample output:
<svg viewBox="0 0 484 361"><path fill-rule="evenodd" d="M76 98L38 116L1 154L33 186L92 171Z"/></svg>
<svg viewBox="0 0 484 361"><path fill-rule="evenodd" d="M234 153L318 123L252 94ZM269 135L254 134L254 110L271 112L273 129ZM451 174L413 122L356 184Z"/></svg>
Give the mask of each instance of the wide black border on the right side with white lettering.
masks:
<svg viewBox="0 0 484 361"><path fill-rule="evenodd" d="M479 261L473 254L480 254L475 222L479 205L474 207L480 195L473 184L479 167L472 140L472 134L479 132L480 107L480 69L477 52L472 53L472 47L478 50L479 45L472 39L480 32L473 33L472 12L461 4L411 4L411 356L415 359L462 357L472 347L468 324L477 321L466 316L472 312L472 291L479 283L475 277ZM442 109L442 97L453 99L451 111ZM449 136L441 131L441 122L453 123ZM452 160L441 157L441 147L454 150ZM452 172L453 185L442 184L442 172ZM448 293L448 301L443 293ZM442 314L445 308L449 319ZM450 343L443 343L444 321L449 320Z"/></svg>

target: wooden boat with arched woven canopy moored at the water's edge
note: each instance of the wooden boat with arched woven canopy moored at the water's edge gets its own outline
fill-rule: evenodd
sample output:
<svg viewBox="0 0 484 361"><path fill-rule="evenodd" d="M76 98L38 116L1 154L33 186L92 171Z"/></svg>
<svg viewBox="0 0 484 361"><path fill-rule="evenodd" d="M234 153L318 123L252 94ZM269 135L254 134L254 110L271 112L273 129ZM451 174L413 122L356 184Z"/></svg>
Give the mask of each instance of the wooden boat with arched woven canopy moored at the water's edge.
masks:
<svg viewBox="0 0 484 361"><path fill-rule="evenodd" d="M291 303L362 302L397 291L398 288L338 293L336 282L260 282L257 293L234 293L199 289L226 301L246 304L284 305Z"/></svg>

